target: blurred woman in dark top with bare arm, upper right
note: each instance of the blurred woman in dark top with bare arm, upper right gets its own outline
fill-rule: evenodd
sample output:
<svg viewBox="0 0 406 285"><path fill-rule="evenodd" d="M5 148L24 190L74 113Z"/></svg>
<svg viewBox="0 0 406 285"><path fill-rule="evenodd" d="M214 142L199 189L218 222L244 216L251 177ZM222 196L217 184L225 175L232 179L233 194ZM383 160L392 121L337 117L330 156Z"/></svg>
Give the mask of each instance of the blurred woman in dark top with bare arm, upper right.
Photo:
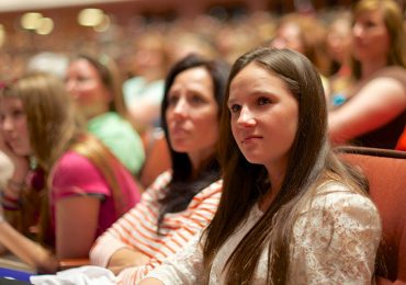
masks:
<svg viewBox="0 0 406 285"><path fill-rule="evenodd" d="M393 0L353 9L353 83L331 94L328 130L335 144L394 149L406 122L406 34Z"/></svg>

